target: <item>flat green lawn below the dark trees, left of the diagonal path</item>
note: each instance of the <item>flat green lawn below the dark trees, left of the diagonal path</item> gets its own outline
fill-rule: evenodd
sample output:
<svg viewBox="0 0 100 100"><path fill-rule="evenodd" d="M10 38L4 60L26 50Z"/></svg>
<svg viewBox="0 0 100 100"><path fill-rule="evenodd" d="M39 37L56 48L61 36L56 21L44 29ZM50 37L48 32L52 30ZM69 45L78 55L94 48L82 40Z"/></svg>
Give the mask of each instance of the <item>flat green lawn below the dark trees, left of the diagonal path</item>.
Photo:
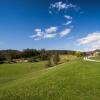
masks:
<svg viewBox="0 0 100 100"><path fill-rule="evenodd" d="M0 65L0 86L12 82L18 78L23 78L27 74L45 69L46 62L38 63L16 63Z"/></svg>

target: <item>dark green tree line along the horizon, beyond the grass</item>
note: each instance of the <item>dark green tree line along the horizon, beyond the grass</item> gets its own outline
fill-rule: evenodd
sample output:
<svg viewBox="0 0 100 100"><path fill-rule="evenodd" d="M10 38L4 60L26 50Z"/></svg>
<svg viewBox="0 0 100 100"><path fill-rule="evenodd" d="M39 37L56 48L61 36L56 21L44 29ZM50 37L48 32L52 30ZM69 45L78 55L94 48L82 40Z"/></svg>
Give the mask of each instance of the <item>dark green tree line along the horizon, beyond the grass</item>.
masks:
<svg viewBox="0 0 100 100"><path fill-rule="evenodd" d="M54 61L55 64L59 62L60 54L71 54L74 55L75 51L70 50L37 50L37 49L24 49L19 50L0 50L0 63L15 62L16 59L27 59L29 62L37 62L48 60L49 63ZM80 56L80 53L77 53ZM50 64L49 64L50 65Z"/></svg>

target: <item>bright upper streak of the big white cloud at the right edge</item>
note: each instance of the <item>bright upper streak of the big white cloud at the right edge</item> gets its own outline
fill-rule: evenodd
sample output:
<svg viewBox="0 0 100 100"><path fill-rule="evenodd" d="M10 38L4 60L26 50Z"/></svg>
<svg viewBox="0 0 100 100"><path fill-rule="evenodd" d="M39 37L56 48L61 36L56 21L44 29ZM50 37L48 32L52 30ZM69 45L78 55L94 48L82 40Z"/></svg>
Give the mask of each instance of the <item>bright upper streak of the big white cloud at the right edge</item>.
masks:
<svg viewBox="0 0 100 100"><path fill-rule="evenodd" d="M77 42L79 43L79 45L86 45L93 42L97 42L99 40L100 40L100 32L93 32L91 34L88 34L86 37L78 39Z"/></svg>

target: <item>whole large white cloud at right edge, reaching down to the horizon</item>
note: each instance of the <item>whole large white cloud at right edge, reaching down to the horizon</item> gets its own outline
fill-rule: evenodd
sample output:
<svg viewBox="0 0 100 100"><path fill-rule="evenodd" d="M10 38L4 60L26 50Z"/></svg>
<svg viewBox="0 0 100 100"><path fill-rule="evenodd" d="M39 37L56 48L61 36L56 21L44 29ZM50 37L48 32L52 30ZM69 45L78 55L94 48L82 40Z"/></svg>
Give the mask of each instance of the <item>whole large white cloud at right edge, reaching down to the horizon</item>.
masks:
<svg viewBox="0 0 100 100"><path fill-rule="evenodd" d="M86 37L77 40L78 45L84 48L84 51L93 51L100 49L100 32L93 32Z"/></svg>

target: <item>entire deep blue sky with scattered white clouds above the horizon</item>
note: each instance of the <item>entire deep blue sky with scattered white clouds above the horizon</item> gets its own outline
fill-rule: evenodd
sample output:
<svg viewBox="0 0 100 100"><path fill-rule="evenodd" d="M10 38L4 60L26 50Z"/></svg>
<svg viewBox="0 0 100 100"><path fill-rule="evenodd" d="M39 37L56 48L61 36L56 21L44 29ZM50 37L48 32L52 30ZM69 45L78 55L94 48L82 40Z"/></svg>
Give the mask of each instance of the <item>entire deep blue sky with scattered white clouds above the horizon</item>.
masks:
<svg viewBox="0 0 100 100"><path fill-rule="evenodd" d="M0 0L0 49L100 48L100 0Z"/></svg>

